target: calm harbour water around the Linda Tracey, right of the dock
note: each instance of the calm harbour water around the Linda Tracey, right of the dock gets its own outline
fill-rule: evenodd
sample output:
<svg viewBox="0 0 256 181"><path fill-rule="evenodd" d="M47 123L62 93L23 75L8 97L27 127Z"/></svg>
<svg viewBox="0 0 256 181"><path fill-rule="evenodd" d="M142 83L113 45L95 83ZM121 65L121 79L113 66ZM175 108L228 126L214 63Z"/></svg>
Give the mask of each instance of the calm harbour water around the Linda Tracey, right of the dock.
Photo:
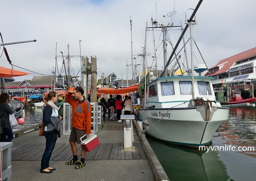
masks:
<svg viewBox="0 0 256 181"><path fill-rule="evenodd" d="M254 147L254 151L200 151L159 142L149 143L172 181L256 180L256 108L231 108L211 146ZM244 148L245 149L245 148Z"/></svg>

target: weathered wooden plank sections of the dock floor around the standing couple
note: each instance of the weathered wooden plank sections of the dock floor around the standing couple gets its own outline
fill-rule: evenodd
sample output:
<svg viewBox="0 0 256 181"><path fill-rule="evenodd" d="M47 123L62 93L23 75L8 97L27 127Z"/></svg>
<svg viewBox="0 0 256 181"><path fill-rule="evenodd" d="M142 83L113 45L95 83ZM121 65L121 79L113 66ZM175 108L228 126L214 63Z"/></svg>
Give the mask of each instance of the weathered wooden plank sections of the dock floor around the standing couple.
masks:
<svg viewBox="0 0 256 181"><path fill-rule="evenodd" d="M108 125L102 130L123 130L123 125ZM135 151L121 151L123 143L100 143L95 149L86 153L85 160L140 160L147 159L142 144L134 143ZM81 145L77 145L78 158L81 157ZM41 160L45 143L16 143L12 146L12 160L35 161ZM71 160L73 158L69 143L56 143L51 160Z"/></svg>

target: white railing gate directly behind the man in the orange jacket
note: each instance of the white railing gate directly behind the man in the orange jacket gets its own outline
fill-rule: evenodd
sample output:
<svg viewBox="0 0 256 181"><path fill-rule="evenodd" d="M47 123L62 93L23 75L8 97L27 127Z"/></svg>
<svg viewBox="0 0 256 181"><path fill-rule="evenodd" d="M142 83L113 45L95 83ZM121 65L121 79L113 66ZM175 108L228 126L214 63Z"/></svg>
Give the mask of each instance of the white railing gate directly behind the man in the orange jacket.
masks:
<svg viewBox="0 0 256 181"><path fill-rule="evenodd" d="M98 132L98 125L102 120L102 106L98 102L91 102L92 107L92 131L94 134ZM69 103L63 104L63 135L70 135L71 132L72 107Z"/></svg>

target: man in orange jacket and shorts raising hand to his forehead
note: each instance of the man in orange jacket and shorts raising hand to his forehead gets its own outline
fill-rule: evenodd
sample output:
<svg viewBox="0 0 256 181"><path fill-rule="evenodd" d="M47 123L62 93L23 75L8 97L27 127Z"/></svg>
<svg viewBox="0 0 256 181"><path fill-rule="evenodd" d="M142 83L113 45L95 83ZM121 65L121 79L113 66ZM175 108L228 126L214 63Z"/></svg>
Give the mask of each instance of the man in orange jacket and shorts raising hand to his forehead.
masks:
<svg viewBox="0 0 256 181"><path fill-rule="evenodd" d="M74 98L71 95L74 94ZM85 166L86 151L82 150L81 161L78 161L76 143L80 144L80 138L83 135L91 133L92 124L92 108L90 102L83 96L84 91L82 87L76 87L74 91L69 91L65 99L72 106L72 130L69 137L69 143L73 153L73 159L66 162L67 165L77 164L75 169L80 169Z"/></svg>

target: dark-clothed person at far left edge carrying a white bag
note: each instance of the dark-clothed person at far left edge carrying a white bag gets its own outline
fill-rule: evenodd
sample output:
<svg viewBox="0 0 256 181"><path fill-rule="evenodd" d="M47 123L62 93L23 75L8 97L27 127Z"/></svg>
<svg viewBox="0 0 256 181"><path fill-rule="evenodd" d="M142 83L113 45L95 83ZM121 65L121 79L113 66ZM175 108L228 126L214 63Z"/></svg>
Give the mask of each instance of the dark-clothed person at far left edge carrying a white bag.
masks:
<svg viewBox="0 0 256 181"><path fill-rule="evenodd" d="M3 125L1 125L3 133L0 135L1 137L0 142L11 142L13 139L13 133L10 127L9 114L13 114L14 111L7 104L7 102L9 101L9 98L10 96L7 93L2 93L0 95L0 114L1 116L3 116L3 119L5 120Z"/></svg>

